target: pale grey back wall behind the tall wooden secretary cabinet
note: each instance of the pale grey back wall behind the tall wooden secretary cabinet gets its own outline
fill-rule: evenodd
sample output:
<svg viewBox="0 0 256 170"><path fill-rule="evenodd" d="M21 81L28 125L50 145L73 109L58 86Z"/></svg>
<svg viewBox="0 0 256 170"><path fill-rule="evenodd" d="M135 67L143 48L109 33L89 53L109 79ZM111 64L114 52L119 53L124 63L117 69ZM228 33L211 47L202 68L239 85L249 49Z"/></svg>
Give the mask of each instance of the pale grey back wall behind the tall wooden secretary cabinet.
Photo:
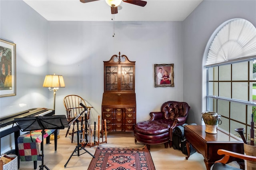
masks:
<svg viewBox="0 0 256 170"><path fill-rule="evenodd" d="M93 121L101 115L104 92L103 61L120 51L136 61L137 122L149 119L168 100L182 101L183 63L181 22L49 22L48 71L62 74L66 87L57 92L57 114L62 100L77 94L94 107ZM154 64L174 63L175 87L154 87Z"/></svg>

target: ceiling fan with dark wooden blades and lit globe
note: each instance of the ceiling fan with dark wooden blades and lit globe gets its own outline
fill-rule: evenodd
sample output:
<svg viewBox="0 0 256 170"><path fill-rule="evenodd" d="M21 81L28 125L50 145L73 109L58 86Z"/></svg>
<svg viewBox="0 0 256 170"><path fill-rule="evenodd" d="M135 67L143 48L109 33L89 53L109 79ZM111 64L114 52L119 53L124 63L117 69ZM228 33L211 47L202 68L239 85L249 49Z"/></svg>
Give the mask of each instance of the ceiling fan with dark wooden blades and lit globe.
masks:
<svg viewBox="0 0 256 170"><path fill-rule="evenodd" d="M97 0L80 0L82 3L93 2ZM106 0L107 4L111 7L111 14L117 14L117 6L120 5L121 1L127 2L129 4L134 4L138 6L145 6L146 1L143 0Z"/></svg>

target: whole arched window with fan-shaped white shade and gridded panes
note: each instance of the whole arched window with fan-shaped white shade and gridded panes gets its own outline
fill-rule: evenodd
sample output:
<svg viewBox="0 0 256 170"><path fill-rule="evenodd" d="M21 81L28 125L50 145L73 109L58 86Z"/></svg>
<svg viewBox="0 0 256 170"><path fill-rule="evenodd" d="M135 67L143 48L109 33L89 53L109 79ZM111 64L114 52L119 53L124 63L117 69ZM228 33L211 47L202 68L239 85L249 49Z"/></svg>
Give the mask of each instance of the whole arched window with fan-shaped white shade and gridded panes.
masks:
<svg viewBox="0 0 256 170"><path fill-rule="evenodd" d="M256 28L236 18L222 24L209 40L206 67L207 110L220 114L219 127L250 134L256 120Z"/></svg>

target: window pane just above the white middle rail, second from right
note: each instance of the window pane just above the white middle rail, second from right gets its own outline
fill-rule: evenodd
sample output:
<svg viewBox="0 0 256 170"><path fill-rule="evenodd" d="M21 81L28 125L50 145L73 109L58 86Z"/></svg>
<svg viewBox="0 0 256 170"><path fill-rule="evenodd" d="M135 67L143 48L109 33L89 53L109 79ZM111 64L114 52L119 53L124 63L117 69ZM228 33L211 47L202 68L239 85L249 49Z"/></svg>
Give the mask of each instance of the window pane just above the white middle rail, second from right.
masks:
<svg viewBox="0 0 256 170"><path fill-rule="evenodd" d="M248 101L248 83L233 82L232 83L232 99Z"/></svg>

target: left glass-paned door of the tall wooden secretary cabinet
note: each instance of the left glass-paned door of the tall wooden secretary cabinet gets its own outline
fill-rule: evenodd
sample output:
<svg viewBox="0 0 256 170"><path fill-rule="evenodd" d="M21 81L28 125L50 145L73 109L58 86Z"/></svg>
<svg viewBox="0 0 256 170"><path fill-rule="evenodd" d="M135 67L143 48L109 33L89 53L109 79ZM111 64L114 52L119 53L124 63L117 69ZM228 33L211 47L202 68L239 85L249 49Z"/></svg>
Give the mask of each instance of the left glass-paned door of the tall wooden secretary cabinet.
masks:
<svg viewBox="0 0 256 170"><path fill-rule="evenodd" d="M118 90L118 66L106 66L105 87L107 91Z"/></svg>

